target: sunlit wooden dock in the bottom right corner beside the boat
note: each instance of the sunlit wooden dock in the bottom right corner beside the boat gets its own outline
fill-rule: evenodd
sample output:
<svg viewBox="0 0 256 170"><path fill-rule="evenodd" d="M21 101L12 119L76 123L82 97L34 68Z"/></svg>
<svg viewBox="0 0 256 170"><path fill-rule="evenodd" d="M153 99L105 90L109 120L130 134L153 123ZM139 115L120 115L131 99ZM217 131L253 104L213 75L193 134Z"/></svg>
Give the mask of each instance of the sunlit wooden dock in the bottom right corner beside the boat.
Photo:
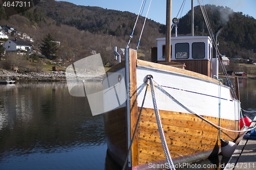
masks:
<svg viewBox="0 0 256 170"><path fill-rule="evenodd" d="M254 117L250 128L256 125ZM224 170L256 169L256 140L242 139L229 159Z"/></svg>

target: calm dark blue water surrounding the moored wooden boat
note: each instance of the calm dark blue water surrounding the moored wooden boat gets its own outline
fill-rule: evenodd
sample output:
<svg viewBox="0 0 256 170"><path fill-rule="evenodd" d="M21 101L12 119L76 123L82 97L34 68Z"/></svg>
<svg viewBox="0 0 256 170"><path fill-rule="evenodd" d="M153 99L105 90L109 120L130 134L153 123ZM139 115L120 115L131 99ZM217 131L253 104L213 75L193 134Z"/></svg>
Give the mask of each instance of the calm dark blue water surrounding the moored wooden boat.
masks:
<svg viewBox="0 0 256 170"><path fill-rule="evenodd" d="M256 81L241 80L240 93L242 108L256 111ZM0 85L0 169L119 169L106 150L103 116L65 82Z"/></svg>

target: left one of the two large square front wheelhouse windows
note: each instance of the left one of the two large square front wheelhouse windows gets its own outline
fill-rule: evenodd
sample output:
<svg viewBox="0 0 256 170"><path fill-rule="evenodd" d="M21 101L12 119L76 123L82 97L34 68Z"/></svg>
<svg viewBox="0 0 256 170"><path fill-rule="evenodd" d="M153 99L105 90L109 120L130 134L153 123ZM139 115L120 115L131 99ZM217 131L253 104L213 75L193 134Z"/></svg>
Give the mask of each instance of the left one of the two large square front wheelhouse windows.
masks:
<svg viewBox="0 0 256 170"><path fill-rule="evenodd" d="M189 44L188 43L175 44L175 56L176 56L176 59L188 59Z"/></svg>

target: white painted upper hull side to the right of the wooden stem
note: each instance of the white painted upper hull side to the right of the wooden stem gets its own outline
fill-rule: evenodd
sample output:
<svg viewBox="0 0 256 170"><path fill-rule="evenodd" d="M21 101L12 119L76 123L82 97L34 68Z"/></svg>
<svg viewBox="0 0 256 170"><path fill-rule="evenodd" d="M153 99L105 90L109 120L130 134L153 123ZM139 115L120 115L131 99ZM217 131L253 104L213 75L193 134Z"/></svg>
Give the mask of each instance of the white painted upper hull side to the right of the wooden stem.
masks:
<svg viewBox="0 0 256 170"><path fill-rule="evenodd" d="M166 71L157 68L138 66L137 67L137 87L138 106L140 107L145 92L145 77L152 75L154 81L163 87L177 101L188 109L199 115L219 118L219 95L221 90L221 118L229 120L239 120L239 101L233 99L230 88L209 80L179 74L173 71ZM157 106L159 110L190 113L168 95L155 87ZM144 103L145 108L154 109L151 92L147 93Z"/></svg>

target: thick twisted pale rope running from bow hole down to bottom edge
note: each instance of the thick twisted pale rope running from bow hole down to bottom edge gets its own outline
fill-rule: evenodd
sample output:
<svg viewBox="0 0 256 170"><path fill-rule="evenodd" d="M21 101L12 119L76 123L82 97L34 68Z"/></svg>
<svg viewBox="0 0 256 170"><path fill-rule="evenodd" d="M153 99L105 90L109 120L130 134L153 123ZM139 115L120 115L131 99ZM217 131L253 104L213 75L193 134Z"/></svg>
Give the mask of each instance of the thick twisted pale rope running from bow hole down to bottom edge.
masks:
<svg viewBox="0 0 256 170"><path fill-rule="evenodd" d="M165 136L163 133L163 127L162 127L162 123L161 123L161 119L160 119L160 115L159 115L159 110L157 108L155 90L154 90L154 85L153 85L153 77L151 75L149 75L149 76L150 76L149 80L150 80L150 86L151 86L152 100L153 100L154 110L155 110L156 119L157 119L158 131L159 131L159 135L160 135L161 142L163 145L164 154L165 154L166 160L170 166L170 169L175 170L175 166L174 166L172 158L170 157L169 149L168 149L168 146L167 146L167 143L165 140Z"/></svg>

